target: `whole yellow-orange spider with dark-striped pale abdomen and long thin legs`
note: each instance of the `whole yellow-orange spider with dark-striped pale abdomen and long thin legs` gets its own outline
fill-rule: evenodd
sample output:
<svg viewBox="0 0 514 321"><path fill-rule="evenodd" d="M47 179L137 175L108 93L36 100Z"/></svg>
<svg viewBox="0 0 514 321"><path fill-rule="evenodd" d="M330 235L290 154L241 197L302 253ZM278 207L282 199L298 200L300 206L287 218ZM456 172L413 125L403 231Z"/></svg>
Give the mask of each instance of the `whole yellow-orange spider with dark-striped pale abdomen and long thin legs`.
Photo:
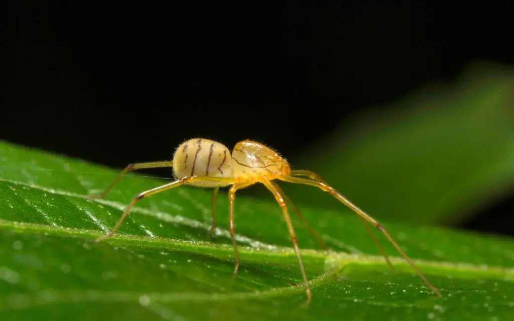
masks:
<svg viewBox="0 0 514 321"><path fill-rule="evenodd" d="M271 192L271 194L273 194L274 198L277 200L282 209L282 213L287 224L287 229L289 231L289 237L298 258L300 271L302 273L305 285L307 302L309 303L311 300L310 287L307 275L305 273L305 268L303 266L302 257L300 255L300 250L298 248L295 230L293 229L291 218L287 211L288 205L291 207L295 215L300 218L307 229L317 238L323 249L325 249L325 246L321 238L300 214L300 211L297 209L297 207L291 202L291 200L284 194L280 186L276 183L276 180L280 180L289 183L318 187L320 190L329 193L344 205L350 207L350 209L361 218L366 231L372 237L373 241L375 242L383 257L386 259L389 266L392 267L391 261L389 260L386 252L378 243L375 235L371 232L368 223L373 225L389 240L389 242L391 242L398 253L400 253L400 255L409 263L409 265L412 267L412 269L414 269L419 277L423 279L429 289L431 289L437 296L442 296L439 290L430 284L423 273L421 273L421 271L416 267L414 261L409 258L405 252L403 252L403 250L398 246L398 244L377 220L360 210L359 207L355 206L352 202L337 192L333 187L328 185L323 179L321 179L319 175L310 171L291 170L289 163L282 156L280 156L273 149L258 142L250 140L238 142L235 144L232 153L230 153L226 146L212 140L203 138L187 140L177 147L172 161L130 164L126 166L125 169L123 169L118 177L111 183L111 185L105 189L102 194L91 195L88 197L88 199L101 198L107 195L107 193L112 190L114 185L116 185L116 183L118 183L118 181L128 172L135 171L137 169L157 167L172 167L175 180L171 183L157 186L151 190L144 191L136 195L125 207L123 214L111 232L97 238L97 242L107 237L111 237L116 233L121 223L128 215L128 213L130 213L132 207L138 200L181 185L214 188L211 199L213 211L212 226L209 229L209 233L211 233L216 226L216 212L214 210L214 204L219 187L230 186L228 190L229 232L232 239L232 246L234 248L234 274L237 274L237 270L239 268L239 255L237 252L234 230L235 192L256 183L262 183Z"/></svg>

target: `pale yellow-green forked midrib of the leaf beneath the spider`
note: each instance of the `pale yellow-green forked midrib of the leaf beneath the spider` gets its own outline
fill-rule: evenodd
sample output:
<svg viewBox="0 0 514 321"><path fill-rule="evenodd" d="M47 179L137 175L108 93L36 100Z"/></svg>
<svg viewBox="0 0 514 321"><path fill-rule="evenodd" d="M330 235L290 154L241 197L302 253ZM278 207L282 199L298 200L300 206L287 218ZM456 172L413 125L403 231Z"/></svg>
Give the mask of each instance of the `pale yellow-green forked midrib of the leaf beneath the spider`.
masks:
<svg viewBox="0 0 514 321"><path fill-rule="evenodd" d="M70 193L66 191L54 190L53 188L47 188L43 186L39 186L37 184L27 184L24 182L13 181L1 179L0 181L8 182L11 184L21 185L30 188L36 188L38 190L62 195L67 197L76 197L76 198L85 198L86 195ZM98 199L96 202L102 203L103 205L110 206L113 209L123 210L125 204L120 202ZM169 213L160 212L160 211L150 211L144 209L142 207L135 206L133 208L134 213L150 215L157 219L163 221L169 221L178 224L184 224L187 226L191 226L194 228L203 228L208 230L210 228L209 224L182 217L180 216L177 219L177 216L173 216ZM63 235L63 236L81 236L86 237L91 240L91 242L103 233L99 231L91 231L87 229L79 229L79 228L69 228L69 227L60 227L53 225L45 225L45 224L36 224L36 223L25 223L25 222L13 222L9 220L0 219L0 226L4 229L10 229L16 233L52 233L54 235ZM229 232L227 230L223 230L220 228L216 228L216 234L224 237L230 237ZM238 242L249 244L249 246L238 246L238 250L241 254L252 254L255 255L254 250L256 248L259 249L260 255L267 256L296 256L295 251L289 247L281 247L276 246L274 244L264 243L258 240L254 240L248 238L241 234L236 234L236 239ZM162 238L162 237L142 237L142 236L134 236L134 235L123 235L122 233L118 233L115 236L108 239L108 242L118 243L118 244L141 244L143 243L145 247L152 248L164 248L164 249L175 249L175 250L188 250L199 252L208 252L210 254L217 252L226 258L231 258L233 254L233 248L227 244L214 244L207 241L188 241L183 239L171 239L171 238ZM363 254L348 254L344 252L338 252L334 250L321 251L321 250L313 250L313 249L301 249L301 255L305 257L313 257L318 259L323 259L328 263L328 266L333 268L331 273L337 273L342 270L345 266L356 264L356 265L373 265L373 266L386 266L384 259L382 256L375 255L363 255ZM391 261L397 267L408 268L408 264L401 257L393 257L390 256ZM455 273L455 276L460 278L468 278L471 276L476 276L476 274L480 274L483 277L494 278L494 279L502 279L514 281L514 268L504 268L504 267L495 267L495 266L486 266L486 265L473 265L472 263L467 262L448 262L448 261L435 261L435 260L420 260L414 259L416 265L420 268L430 268L431 273L438 275L447 275L449 271ZM414 273L413 271L411 271ZM313 284L314 286L314 284Z"/></svg>

